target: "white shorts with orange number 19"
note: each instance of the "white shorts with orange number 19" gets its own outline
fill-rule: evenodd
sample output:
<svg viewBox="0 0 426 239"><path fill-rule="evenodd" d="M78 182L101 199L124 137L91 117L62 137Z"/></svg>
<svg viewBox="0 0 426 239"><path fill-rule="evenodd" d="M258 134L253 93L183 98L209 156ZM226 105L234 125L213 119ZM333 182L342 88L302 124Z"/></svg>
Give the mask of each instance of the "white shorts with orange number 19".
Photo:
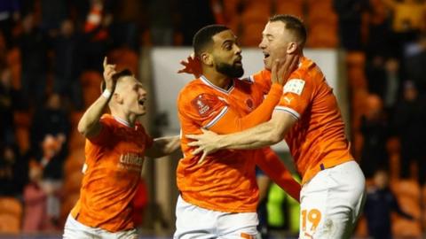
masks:
<svg viewBox="0 0 426 239"><path fill-rule="evenodd" d="M355 161L317 173L300 194L299 238L350 238L364 206L365 188Z"/></svg>

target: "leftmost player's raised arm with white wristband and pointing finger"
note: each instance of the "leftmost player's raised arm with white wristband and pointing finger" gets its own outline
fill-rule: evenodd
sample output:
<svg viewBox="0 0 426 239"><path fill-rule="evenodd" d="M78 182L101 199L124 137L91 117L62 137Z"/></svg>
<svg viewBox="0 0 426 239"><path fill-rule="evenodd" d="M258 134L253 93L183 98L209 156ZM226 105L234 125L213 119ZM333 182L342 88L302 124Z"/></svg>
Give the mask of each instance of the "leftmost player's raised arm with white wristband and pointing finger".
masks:
<svg viewBox="0 0 426 239"><path fill-rule="evenodd" d="M115 82L113 75L115 73L115 65L107 64L107 59L104 58L104 80L106 89L101 96L84 112L82 119L78 122L78 132L86 138L91 138L99 135L101 124L99 122L105 106L108 104L111 96L114 94Z"/></svg>

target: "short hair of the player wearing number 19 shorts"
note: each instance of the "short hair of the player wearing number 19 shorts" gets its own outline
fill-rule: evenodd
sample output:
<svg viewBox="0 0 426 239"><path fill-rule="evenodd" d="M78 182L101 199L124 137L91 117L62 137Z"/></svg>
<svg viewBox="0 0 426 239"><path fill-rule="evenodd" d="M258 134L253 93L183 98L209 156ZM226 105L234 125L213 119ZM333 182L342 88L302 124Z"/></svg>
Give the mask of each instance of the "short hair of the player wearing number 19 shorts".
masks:
<svg viewBox="0 0 426 239"><path fill-rule="evenodd" d="M300 41L302 47L304 47L304 43L306 42L307 32L306 27L304 27L304 22L302 19L297 18L293 15L288 14L278 14L272 16L269 19L270 22L281 21L286 25L286 29L291 31L293 35Z"/></svg>

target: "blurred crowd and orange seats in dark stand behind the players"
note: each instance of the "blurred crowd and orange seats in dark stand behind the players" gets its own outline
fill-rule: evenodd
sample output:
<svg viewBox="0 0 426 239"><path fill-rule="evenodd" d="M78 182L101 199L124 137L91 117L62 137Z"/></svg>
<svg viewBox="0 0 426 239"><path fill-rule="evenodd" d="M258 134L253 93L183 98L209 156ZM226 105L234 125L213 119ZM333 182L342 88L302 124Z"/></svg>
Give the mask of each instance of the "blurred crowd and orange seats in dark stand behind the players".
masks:
<svg viewBox="0 0 426 239"><path fill-rule="evenodd" d="M20 229L60 229L67 214L63 205L75 200L64 189L78 197L78 185L67 181L81 180L81 173L70 171L83 165L83 140L75 125L99 96L104 56L138 73L141 48L189 46L199 28L213 23L228 25L243 46L256 47L275 13L304 19L308 47L346 52L353 153L368 179L377 172L389 175L403 209L411 203L398 195L404 191L398 185L414 185L416 207L408 214L421 232L426 227L422 0L0 1L0 197L23 204ZM369 185L376 193L375 181Z"/></svg>

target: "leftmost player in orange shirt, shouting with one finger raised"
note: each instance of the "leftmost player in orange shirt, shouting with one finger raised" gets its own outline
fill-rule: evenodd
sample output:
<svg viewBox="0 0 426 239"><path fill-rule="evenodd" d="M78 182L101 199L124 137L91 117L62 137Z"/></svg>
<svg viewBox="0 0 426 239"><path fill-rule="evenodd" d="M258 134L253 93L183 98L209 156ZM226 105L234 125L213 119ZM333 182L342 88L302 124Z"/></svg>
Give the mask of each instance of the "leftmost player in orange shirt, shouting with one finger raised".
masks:
<svg viewBox="0 0 426 239"><path fill-rule="evenodd" d="M144 157L179 148L179 137L152 139L138 117L146 113L146 90L129 70L115 72L104 60L105 89L84 112L78 131L86 137L80 198L70 212L64 238L138 238L131 201ZM111 114L104 114L106 105Z"/></svg>

